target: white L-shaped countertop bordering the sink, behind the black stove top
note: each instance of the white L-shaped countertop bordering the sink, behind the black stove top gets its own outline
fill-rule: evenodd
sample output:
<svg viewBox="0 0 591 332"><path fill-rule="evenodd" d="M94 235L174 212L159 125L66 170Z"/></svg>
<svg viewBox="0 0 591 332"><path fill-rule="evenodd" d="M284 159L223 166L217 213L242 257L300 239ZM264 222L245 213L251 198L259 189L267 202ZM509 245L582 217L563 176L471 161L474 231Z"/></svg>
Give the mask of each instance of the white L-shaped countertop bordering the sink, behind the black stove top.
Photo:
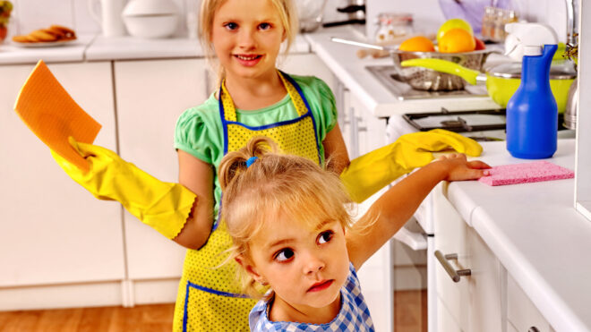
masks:
<svg viewBox="0 0 591 332"><path fill-rule="evenodd" d="M400 100L385 88L365 67L367 65L392 64L390 57L360 59L355 54L359 47L330 41L331 37L364 41L364 37L353 29L324 29L305 35L313 52L319 55L332 72L338 77L350 93L354 94L375 116L385 117L413 112L441 111L445 107L450 111L466 109L500 108L488 96L444 97L429 99ZM404 84L407 86L406 84ZM410 87L408 87L409 89Z"/></svg>

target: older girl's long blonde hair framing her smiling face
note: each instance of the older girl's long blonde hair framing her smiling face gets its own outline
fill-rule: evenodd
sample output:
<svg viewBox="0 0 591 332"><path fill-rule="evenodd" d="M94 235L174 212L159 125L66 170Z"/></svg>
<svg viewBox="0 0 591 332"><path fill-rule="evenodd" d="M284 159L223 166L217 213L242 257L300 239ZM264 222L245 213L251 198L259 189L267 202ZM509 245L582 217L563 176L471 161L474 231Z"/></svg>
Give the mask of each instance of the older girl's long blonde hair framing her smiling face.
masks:
<svg viewBox="0 0 591 332"><path fill-rule="evenodd" d="M215 61L215 50L211 42L211 27L213 26L213 17L218 8L227 0L202 0L201 10L199 13L199 38L201 40L201 47L206 58L210 61L211 69L217 72L218 81L221 81L225 72L224 69ZM244 0L247 1L247 0ZM289 51L289 47L295 40L297 35L298 19L297 11L293 0L269 0L271 4L277 9L281 23L286 33L287 47L285 54Z"/></svg>

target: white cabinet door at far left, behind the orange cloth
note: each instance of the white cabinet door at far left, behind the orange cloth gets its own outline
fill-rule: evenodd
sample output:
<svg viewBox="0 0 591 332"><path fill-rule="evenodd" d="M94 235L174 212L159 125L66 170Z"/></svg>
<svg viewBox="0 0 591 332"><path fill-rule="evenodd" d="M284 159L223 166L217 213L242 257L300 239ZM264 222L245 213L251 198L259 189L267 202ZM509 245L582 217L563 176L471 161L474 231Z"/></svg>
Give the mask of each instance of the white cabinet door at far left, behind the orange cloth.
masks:
<svg viewBox="0 0 591 332"><path fill-rule="evenodd" d="M110 64L48 66L102 124L95 143L116 149ZM97 200L73 182L13 111L33 67L0 66L0 288L121 280L121 206Z"/></svg>

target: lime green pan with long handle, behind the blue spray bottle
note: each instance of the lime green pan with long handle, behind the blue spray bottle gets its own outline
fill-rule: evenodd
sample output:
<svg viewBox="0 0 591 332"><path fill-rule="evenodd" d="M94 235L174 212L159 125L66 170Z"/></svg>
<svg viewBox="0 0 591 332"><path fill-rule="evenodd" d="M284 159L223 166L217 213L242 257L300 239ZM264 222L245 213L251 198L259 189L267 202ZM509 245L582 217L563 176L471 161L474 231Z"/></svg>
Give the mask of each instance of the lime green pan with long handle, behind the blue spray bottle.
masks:
<svg viewBox="0 0 591 332"><path fill-rule="evenodd" d="M507 106L509 99L521 83L521 64L519 63L498 64L486 73L442 59L410 59L403 61L400 65L405 68L420 67L457 75L472 85L475 85L476 81L486 81L488 95L501 107ZM556 99L559 113L564 113L566 109L570 85L576 77L577 72L570 62L557 62L550 68L550 89Z"/></svg>

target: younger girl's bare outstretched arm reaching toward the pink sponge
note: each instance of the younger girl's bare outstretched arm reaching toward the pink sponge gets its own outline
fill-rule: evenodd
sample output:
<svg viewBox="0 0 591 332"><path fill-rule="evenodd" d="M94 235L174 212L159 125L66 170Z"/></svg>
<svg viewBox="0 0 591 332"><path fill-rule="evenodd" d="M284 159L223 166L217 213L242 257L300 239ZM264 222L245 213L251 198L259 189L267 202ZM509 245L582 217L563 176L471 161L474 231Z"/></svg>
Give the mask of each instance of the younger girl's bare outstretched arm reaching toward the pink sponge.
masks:
<svg viewBox="0 0 591 332"><path fill-rule="evenodd" d="M360 268L407 223L437 183L478 179L485 175L486 168L490 166L482 161L467 161L463 154L450 154L392 186L347 234L349 259L355 268Z"/></svg>

